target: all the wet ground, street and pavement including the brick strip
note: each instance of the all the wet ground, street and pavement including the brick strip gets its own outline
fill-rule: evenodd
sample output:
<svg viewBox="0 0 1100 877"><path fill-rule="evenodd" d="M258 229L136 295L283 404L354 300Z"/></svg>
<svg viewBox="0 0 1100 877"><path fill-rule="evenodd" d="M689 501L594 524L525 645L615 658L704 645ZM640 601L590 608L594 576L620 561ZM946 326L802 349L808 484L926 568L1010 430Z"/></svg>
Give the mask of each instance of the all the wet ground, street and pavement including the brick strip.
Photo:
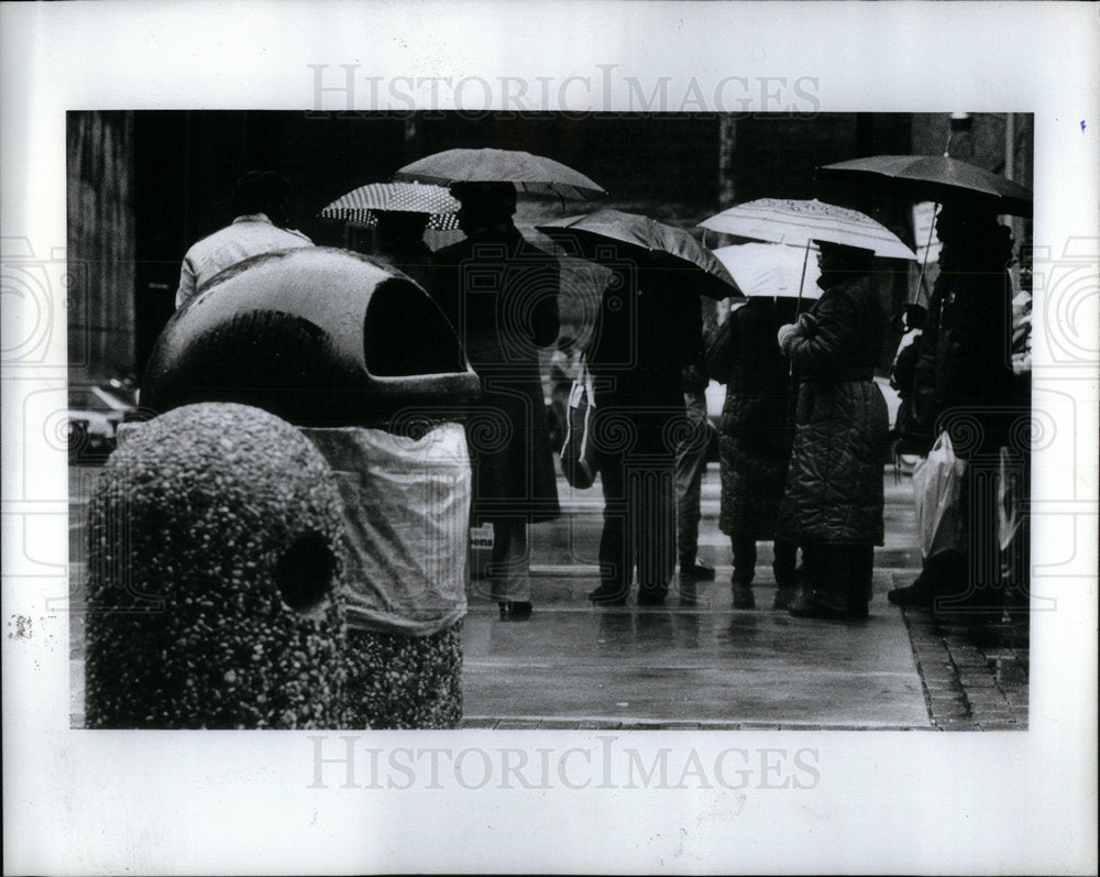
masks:
<svg viewBox="0 0 1100 877"><path fill-rule="evenodd" d="M84 502L92 470L73 470L73 581L84 577ZM470 727L826 727L1008 730L1027 724L1026 618L978 637L886 593L920 568L908 478L883 473L886 546L876 549L867 621L794 618L771 609L761 544L756 610L730 604L730 552L717 529L718 473L703 485L700 559L717 567L694 605L594 609L598 483L559 481L563 516L532 527L534 617L503 623L485 583L470 587L463 647ZM476 560L477 558L475 558ZM74 725L84 717L81 618L70 643Z"/></svg>

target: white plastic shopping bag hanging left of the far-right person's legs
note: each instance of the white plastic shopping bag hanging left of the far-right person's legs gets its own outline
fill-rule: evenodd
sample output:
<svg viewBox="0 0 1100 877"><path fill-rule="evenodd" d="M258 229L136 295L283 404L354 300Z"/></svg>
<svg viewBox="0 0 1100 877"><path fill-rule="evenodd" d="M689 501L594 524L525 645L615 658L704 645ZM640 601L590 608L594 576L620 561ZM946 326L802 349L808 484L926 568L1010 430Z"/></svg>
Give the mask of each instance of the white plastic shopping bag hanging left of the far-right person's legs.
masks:
<svg viewBox="0 0 1100 877"><path fill-rule="evenodd" d="M913 469L913 496L921 553L967 550L967 523L960 501L966 462L955 456L950 437L941 432L927 458Z"/></svg>

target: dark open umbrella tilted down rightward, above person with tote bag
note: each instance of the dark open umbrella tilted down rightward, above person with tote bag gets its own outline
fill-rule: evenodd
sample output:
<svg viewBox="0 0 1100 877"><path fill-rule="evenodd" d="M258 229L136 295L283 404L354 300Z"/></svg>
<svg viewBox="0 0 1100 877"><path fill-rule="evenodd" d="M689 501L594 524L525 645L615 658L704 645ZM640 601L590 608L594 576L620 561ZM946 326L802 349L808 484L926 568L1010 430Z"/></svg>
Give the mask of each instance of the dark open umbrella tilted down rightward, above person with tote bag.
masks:
<svg viewBox="0 0 1100 877"><path fill-rule="evenodd" d="M670 268L696 272L702 281L698 292L704 295L719 300L741 297L737 282L710 250L683 229L649 217L606 209L535 228L570 255L616 265L623 259L657 254Z"/></svg>

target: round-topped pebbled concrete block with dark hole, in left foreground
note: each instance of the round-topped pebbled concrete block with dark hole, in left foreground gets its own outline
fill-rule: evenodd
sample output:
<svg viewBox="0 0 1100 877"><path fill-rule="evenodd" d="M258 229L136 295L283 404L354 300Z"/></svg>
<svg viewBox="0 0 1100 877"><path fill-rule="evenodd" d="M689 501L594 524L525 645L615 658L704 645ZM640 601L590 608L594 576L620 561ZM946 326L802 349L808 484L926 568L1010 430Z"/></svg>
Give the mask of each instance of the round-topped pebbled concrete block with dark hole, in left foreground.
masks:
<svg viewBox="0 0 1100 877"><path fill-rule="evenodd" d="M257 408L123 428L89 509L89 727L345 726L342 502Z"/></svg>

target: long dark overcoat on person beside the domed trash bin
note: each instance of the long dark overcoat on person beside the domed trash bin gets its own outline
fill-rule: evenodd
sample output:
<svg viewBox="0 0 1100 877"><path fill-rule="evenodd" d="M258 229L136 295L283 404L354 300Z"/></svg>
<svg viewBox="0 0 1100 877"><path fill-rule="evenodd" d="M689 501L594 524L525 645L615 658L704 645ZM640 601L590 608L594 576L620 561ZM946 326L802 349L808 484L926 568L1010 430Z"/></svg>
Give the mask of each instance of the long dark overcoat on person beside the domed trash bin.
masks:
<svg viewBox="0 0 1100 877"><path fill-rule="evenodd" d="M477 232L432 256L429 293L481 379L466 416L475 524L560 514L539 348L558 338L558 261L514 226Z"/></svg>

